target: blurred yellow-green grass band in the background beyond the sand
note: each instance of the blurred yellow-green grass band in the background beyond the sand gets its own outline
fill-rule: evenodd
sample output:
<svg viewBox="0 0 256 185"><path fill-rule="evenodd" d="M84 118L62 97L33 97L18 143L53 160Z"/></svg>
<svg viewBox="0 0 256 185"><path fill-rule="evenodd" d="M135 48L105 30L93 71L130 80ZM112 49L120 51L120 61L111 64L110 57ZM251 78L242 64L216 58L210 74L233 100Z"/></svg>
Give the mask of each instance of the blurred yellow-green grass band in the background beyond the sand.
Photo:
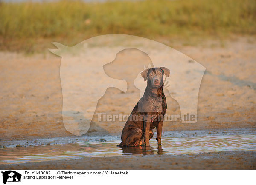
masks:
<svg viewBox="0 0 256 185"><path fill-rule="evenodd" d="M157 40L256 34L255 0L146 0L0 3L0 49L41 50L101 34Z"/></svg>

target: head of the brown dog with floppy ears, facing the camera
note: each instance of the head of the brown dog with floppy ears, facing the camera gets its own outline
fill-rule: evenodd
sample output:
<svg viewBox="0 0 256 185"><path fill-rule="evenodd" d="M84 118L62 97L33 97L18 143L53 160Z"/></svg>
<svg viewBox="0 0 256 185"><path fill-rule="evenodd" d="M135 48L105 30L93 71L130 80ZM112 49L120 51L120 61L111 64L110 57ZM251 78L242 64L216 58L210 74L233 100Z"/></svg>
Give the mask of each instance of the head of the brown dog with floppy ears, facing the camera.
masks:
<svg viewBox="0 0 256 185"><path fill-rule="evenodd" d="M170 76L170 70L165 67L145 69L141 76L144 81L148 79L148 85L150 88L160 88L163 85L163 75Z"/></svg>

